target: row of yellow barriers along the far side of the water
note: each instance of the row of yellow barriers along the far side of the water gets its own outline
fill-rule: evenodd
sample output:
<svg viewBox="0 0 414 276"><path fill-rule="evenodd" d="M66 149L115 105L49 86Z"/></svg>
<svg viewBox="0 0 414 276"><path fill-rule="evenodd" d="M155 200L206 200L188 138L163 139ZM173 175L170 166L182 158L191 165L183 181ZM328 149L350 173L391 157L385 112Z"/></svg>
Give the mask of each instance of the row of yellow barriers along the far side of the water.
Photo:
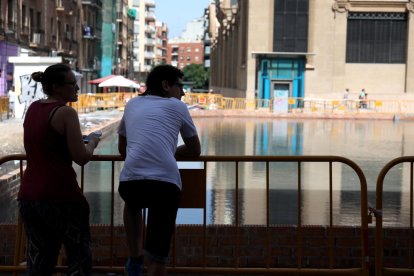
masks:
<svg viewBox="0 0 414 276"><path fill-rule="evenodd" d="M136 93L99 93L80 94L77 103L71 106L78 112L92 112L97 109L123 109L127 101L138 96ZM3 99L5 100L5 99ZM222 110L263 110L273 112L273 99L245 99L229 98L220 94L191 93L182 98L188 105L198 106L202 109ZM414 101L410 100L368 100L362 105L360 100L294 98L286 99L287 110L292 113L414 113ZM3 109L1 109L3 108ZM0 112L8 110L8 103L0 101Z"/></svg>

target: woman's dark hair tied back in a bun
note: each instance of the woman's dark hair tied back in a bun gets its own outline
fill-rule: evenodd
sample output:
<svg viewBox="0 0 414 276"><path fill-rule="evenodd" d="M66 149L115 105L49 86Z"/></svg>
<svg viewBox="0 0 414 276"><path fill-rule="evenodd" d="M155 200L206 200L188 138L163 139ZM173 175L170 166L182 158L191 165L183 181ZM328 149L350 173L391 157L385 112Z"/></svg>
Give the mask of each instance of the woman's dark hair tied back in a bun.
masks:
<svg viewBox="0 0 414 276"><path fill-rule="evenodd" d="M40 82L43 87L43 93L50 96L53 94L52 84L63 84L66 74L72 69L64 63L50 65L44 72L34 72L32 79Z"/></svg>

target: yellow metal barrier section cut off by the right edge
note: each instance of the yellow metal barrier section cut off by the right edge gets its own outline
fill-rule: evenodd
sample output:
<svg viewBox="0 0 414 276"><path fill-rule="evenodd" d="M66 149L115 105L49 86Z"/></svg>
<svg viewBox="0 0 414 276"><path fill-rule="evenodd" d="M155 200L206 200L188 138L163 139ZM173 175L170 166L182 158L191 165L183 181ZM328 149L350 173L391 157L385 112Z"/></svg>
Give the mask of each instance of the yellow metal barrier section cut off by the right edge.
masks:
<svg viewBox="0 0 414 276"><path fill-rule="evenodd" d="M385 267L384 265L384 236L383 236L383 219L384 219L384 210L383 210L383 189L384 189L384 180L387 174L399 164L408 164L408 186L409 186L409 225L408 225L408 235L407 242L402 241L401 247L405 247L402 250L407 252L408 263L407 268L392 268ZM395 158L389 161L380 171L377 178L377 187L376 187L376 206L370 208L370 212L375 215L376 227L375 227L375 271L377 276L382 275L413 275L414 274L414 228L413 228L413 215L414 215L414 188L413 188L413 175L414 175L414 156L404 156Z"/></svg>

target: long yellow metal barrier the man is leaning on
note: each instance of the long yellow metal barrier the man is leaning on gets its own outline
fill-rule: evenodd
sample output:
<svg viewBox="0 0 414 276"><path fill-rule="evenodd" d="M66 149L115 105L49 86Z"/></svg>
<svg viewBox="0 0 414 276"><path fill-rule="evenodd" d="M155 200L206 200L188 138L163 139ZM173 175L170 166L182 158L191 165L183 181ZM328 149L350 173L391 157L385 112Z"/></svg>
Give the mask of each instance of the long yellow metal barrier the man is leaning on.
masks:
<svg viewBox="0 0 414 276"><path fill-rule="evenodd" d="M22 175L24 170L24 161L26 160L25 155L9 155L3 158L0 158L0 165L5 162L18 160L20 161L20 175ZM105 266L95 265L93 270L95 272L123 272L123 267L115 266L115 261L113 260L114 256L114 246L115 246L115 223L114 223L114 197L115 197L115 164L116 162L122 162L123 158L117 155L96 155L93 156L92 162L102 162L109 161L111 162L111 220L110 220L110 246L109 246L109 256L110 260ZM175 251L175 238L173 239L173 250L172 250L172 264L169 266L168 270L171 273L208 273L208 274L313 274L313 275L368 275L369 268L369 245L368 245L368 203L367 203L367 183L365 176L360 169L360 167L353 161L339 156L201 156L195 159L180 159L177 161L181 162L202 162L203 168L201 169L184 169L181 170L182 182L183 182L183 194L181 207L183 208L202 208L203 212L203 249L200 253L202 256L202 265L197 267L185 267L178 266L176 264L176 251ZM206 179L208 178L207 167L211 163L233 163L235 165L235 222L232 225L234 229L234 236L236 239L236 249L235 249L235 258L234 262L225 267L218 266L209 266L207 265L207 252L206 252L206 235L207 235L207 225L206 225ZM247 268L243 267L240 262L241 253L239 252L240 244L243 242L242 238L242 225L241 219L239 216L239 168L242 163L264 163L265 164L265 183L266 183L266 223L265 223L265 239L266 239L266 249L265 249L265 264L262 267L257 268ZM296 228L295 233L293 234L293 239L296 241L294 244L295 248L295 259L296 266L290 268L274 267L271 262L271 237L278 235L277 231L274 230L274 225L270 222L270 204L269 204L269 191L270 191L270 164L273 163L293 163L297 166L297 183L296 183L296 192L297 192L297 224L294 225ZM302 167L304 163L326 163L326 170L328 172L328 187L329 189L329 223L326 226L327 231L327 247L328 247L328 267L323 268L307 268L304 264L304 251L306 249L304 243L304 225L302 224L302 207L301 207L301 198L302 198ZM336 268L334 264L335 253L338 250L335 250L335 238L334 238L334 221L333 221L333 205L334 205L334 196L333 196L333 164L347 165L350 167L357 175L357 182L360 184L360 242L359 249L360 252L360 266L359 267L350 267L350 268ZM80 173L80 186L83 189L85 185L85 167L81 167ZM22 230L22 223L18 220L18 225L16 226L16 242L15 242L15 257L13 265L0 265L0 272L23 272L25 271L25 266L22 265L24 261L23 247L24 247L24 233ZM261 238L262 239L262 238ZM326 252L325 252L326 253ZM58 271L65 270L65 267L59 266Z"/></svg>

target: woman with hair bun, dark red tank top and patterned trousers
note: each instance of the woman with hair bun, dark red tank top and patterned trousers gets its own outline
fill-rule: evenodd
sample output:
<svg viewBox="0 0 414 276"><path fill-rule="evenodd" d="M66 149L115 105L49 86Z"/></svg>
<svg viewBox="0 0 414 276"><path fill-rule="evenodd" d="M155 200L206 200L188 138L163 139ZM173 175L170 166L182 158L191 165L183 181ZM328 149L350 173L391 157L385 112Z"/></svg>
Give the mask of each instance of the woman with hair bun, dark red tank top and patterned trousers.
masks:
<svg viewBox="0 0 414 276"><path fill-rule="evenodd" d="M52 275L62 244L67 275L91 275L89 205L72 162L86 164L99 138L85 145L76 111L75 76L65 64L54 64L32 79L47 96L33 102L23 123L27 168L17 196L27 234L27 275Z"/></svg>

